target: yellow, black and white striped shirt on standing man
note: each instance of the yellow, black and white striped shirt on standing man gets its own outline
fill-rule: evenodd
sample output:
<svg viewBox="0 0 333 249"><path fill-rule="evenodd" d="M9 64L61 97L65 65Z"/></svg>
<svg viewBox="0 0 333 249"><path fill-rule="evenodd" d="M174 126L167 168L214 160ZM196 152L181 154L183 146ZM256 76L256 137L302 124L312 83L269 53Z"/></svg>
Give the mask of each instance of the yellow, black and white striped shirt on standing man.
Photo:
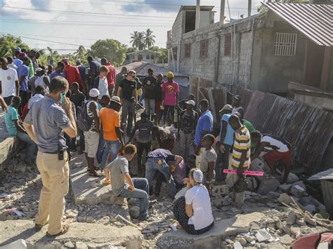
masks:
<svg viewBox="0 0 333 249"><path fill-rule="evenodd" d="M245 158L243 168L247 168L249 167L251 156L251 140L249 130L247 130L245 126L242 126L235 131L235 142L233 144L233 159L231 161L231 166L235 168L240 166L240 156L244 150L247 151L247 156Z"/></svg>

